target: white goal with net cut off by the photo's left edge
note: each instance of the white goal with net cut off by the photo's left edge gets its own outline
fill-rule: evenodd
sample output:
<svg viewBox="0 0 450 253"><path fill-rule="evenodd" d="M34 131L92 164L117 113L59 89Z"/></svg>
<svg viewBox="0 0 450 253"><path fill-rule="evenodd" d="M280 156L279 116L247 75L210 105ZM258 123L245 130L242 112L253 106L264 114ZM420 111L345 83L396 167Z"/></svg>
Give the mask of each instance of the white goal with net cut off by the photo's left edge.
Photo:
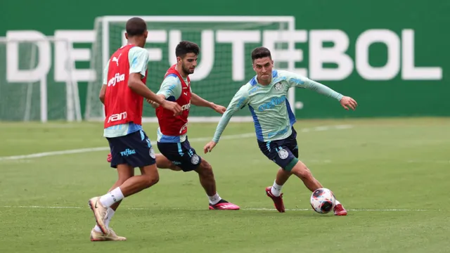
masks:
<svg viewBox="0 0 450 253"><path fill-rule="evenodd" d="M0 37L0 73L4 73L0 75L0 121L81 121L70 56L58 66L65 77L55 78L53 71L53 49L68 52L69 41L13 33Z"/></svg>

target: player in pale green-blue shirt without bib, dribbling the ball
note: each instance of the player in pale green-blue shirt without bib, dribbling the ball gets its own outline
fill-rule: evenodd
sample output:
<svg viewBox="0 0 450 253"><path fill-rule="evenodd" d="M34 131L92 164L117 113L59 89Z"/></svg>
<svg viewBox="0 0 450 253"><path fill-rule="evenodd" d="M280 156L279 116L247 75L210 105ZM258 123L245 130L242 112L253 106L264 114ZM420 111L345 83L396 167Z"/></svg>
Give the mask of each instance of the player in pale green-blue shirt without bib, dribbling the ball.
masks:
<svg viewBox="0 0 450 253"><path fill-rule="evenodd" d="M205 153L212 151L233 113L248 105L255 123L259 149L269 160L281 167L276 174L274 186L266 188L266 195L274 201L278 212L285 212L281 188L290 175L298 176L311 191L322 188L321 183L314 179L308 167L298 160L297 133L293 128L295 116L286 98L288 90L291 87L297 87L316 91L340 101L346 110L349 108L354 110L356 101L299 74L273 70L274 61L267 48L255 48L252 51L252 63L256 76L242 86L233 97L220 119L212 141L205 145L203 151ZM334 214L347 215L347 211L338 200L336 200Z"/></svg>

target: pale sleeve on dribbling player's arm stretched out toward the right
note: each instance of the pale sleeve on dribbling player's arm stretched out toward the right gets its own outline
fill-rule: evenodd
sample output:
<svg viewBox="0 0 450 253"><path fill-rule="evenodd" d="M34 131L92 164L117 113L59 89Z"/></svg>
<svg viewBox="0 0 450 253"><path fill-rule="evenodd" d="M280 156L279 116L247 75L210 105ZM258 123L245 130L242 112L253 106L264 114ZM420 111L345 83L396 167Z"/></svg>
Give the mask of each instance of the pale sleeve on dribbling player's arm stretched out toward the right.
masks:
<svg viewBox="0 0 450 253"><path fill-rule="evenodd" d="M341 98L343 97L342 94L334 91L333 89L330 89L328 86L325 86L319 82L315 82L307 77L303 77L300 74L285 72L285 77L290 87L309 89L311 91L316 91L319 94L328 96L330 98L335 98L337 100L341 100Z"/></svg>

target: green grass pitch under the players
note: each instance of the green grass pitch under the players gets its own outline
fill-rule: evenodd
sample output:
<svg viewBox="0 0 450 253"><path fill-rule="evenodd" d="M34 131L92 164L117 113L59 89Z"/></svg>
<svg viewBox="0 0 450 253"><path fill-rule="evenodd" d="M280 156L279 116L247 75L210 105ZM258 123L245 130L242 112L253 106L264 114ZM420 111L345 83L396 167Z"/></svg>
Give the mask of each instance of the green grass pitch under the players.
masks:
<svg viewBox="0 0 450 253"><path fill-rule="evenodd" d="M190 125L198 153L215 126ZM156 127L144 126L153 141ZM348 216L314 213L295 177L283 188L288 211L276 212L264 193L276 164L260 153L251 123L231 123L203 157L221 197L242 210L210 211L195 172L160 170L160 182L124 200L110 223L128 240L90 242L87 200L116 179L102 124L2 123L0 252L450 252L449 118L300 120L295 128L300 160Z"/></svg>

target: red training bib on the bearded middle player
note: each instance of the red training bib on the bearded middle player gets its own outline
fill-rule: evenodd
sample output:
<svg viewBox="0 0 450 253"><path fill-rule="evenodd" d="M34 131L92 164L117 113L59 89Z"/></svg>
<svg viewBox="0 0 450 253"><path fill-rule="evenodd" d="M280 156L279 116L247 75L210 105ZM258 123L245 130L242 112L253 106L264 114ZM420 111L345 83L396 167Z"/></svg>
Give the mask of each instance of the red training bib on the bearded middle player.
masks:
<svg viewBox="0 0 450 253"><path fill-rule="evenodd" d="M175 74L180 79L181 95L175 102L181 106L181 115L174 116L174 112L162 108L162 106L156 108L156 117L158 117L160 130L165 136L181 136L188 131L189 108L191 108L191 80L187 77L188 83L186 84L175 67L176 65L170 67L164 78Z"/></svg>

